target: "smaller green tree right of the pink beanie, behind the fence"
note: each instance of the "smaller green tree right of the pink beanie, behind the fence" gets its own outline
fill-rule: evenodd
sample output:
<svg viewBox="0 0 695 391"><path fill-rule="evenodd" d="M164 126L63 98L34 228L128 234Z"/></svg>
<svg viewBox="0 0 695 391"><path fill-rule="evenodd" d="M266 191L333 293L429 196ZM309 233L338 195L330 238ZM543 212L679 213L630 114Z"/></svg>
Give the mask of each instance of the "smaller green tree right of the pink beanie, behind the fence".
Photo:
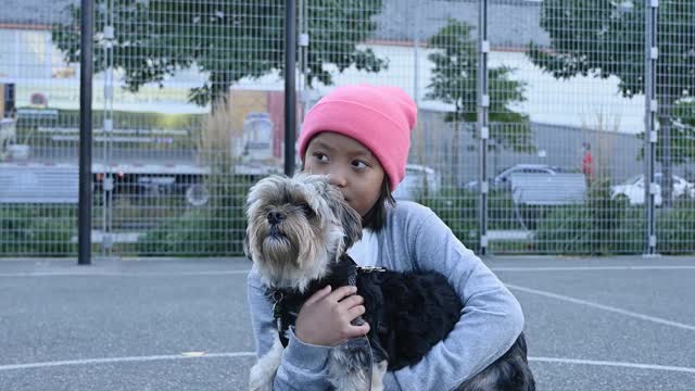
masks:
<svg viewBox="0 0 695 391"><path fill-rule="evenodd" d="M452 140L454 178L458 178L458 128L460 123L478 121L478 42L470 36L472 27L454 18L429 39L428 46L435 49L428 55L434 63L432 78L428 85L427 99L440 100L454 105L444 121L453 123ZM533 151L529 117L517 113L509 106L526 100L526 84L510 78L514 70L507 66L489 68L490 94L490 139L489 149L498 152L498 148L515 151ZM511 127L510 123L526 126ZM472 128L471 128L472 129ZM475 137L478 137L473 134Z"/></svg>

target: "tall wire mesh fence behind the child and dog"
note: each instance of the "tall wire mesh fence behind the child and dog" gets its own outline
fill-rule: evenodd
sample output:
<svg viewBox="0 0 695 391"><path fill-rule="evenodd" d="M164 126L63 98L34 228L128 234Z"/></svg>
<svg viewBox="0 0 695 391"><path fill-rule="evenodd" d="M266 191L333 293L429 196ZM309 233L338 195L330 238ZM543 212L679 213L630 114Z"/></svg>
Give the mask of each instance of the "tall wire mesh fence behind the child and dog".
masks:
<svg viewBox="0 0 695 391"><path fill-rule="evenodd" d="M80 3L8 1L0 255L74 254ZM296 3L299 122L336 86L404 88L396 198L468 247L695 252L691 1ZM285 2L94 10L94 251L240 254L249 187L282 172Z"/></svg>

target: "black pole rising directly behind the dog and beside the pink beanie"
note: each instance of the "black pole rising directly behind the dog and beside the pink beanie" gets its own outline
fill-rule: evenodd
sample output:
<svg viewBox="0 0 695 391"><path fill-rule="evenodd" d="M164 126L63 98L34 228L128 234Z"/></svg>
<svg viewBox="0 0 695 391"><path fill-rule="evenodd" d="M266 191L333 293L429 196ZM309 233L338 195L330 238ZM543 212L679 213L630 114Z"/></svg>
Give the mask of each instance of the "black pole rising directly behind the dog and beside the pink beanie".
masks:
<svg viewBox="0 0 695 391"><path fill-rule="evenodd" d="M285 175L294 174L294 142L296 140L296 18L295 1L285 2Z"/></svg>

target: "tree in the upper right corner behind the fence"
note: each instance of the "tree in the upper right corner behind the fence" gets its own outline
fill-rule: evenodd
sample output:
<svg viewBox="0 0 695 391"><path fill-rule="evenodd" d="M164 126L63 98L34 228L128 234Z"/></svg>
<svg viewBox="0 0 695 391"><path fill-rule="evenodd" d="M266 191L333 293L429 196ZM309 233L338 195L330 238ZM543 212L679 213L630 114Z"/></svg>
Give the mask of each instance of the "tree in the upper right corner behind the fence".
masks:
<svg viewBox="0 0 695 391"><path fill-rule="evenodd" d="M545 0L542 7L541 27L549 34L551 48L531 42L527 53L533 63L556 78L616 76L623 97L644 93L645 1ZM672 138L671 129L673 109L695 91L695 2L661 0L657 23L656 159L662 166L664 202L669 205L671 166L693 157L692 142Z"/></svg>

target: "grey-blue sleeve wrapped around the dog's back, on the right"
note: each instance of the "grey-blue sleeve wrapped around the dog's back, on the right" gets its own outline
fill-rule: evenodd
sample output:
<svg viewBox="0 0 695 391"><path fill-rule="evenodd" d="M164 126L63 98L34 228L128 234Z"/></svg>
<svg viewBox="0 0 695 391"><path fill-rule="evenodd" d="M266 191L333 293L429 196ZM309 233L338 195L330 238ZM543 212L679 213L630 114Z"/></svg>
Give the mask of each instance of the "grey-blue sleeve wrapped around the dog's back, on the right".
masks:
<svg viewBox="0 0 695 391"><path fill-rule="evenodd" d="M511 348L523 329L521 306L433 212L427 210L405 238L413 266L446 276L464 310L422 361L387 374L384 390L453 390Z"/></svg>

